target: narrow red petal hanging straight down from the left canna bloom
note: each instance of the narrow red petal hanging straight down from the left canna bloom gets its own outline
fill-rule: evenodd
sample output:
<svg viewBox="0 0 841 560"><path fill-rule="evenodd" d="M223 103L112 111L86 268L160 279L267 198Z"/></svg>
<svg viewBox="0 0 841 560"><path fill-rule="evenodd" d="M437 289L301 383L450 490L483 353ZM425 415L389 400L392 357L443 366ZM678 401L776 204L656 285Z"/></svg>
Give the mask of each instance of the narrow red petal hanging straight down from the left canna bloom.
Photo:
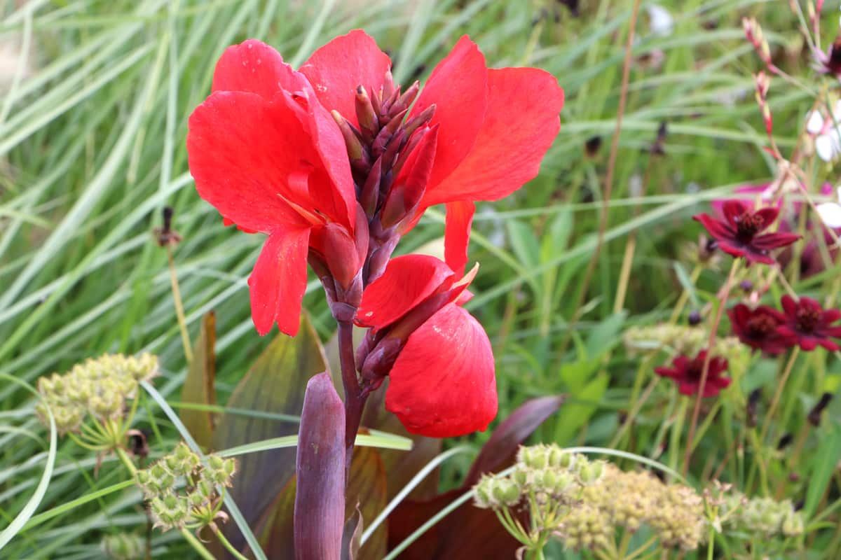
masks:
<svg viewBox="0 0 841 560"><path fill-rule="evenodd" d="M307 288L309 228L278 228L263 245L248 277L251 318L264 335L277 322L281 332L298 334L301 300Z"/></svg>

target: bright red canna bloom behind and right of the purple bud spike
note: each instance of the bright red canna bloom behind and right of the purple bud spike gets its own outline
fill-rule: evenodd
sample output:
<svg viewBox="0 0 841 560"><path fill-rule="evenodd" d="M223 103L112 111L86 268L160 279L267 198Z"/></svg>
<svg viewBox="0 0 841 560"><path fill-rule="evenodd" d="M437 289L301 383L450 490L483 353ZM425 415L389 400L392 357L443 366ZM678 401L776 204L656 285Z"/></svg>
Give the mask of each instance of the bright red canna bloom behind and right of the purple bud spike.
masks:
<svg viewBox="0 0 841 560"><path fill-rule="evenodd" d="M325 107L356 124L357 86L374 91L391 86L390 73L383 78L389 65L372 38L354 31L315 51L301 71ZM433 105L431 121L415 132L437 130L432 169L399 229L405 233L427 207L446 203L447 262L463 270L473 201L508 196L537 175L560 128L563 90L554 76L537 68L489 69L479 47L464 36L436 65L407 120Z"/></svg>

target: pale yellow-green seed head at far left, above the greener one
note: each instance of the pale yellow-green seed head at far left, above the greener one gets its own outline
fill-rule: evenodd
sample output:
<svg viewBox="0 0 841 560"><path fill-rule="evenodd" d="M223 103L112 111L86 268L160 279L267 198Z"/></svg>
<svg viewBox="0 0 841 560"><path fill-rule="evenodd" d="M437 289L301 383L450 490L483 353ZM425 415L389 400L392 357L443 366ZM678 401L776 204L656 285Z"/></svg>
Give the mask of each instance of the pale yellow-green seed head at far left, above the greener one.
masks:
<svg viewBox="0 0 841 560"><path fill-rule="evenodd" d="M94 421L117 420L125 414L125 402L135 398L137 383L158 374L156 356L105 354L73 366L66 374L52 374L38 381L45 403L38 413L47 422L46 406L60 433L78 432L87 415Z"/></svg>

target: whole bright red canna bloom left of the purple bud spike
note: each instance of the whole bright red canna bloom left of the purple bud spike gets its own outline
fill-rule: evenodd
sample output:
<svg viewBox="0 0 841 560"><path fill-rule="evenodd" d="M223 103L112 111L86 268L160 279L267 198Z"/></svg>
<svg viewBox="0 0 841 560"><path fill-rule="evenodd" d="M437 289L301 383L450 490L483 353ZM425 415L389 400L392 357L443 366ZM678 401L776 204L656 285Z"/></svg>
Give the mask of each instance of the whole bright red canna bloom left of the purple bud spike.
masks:
<svg viewBox="0 0 841 560"><path fill-rule="evenodd" d="M308 255L347 289L368 249L341 131L307 76L248 40L216 64L187 149L198 194L226 223L268 235L248 279L257 331L277 322L294 336Z"/></svg>

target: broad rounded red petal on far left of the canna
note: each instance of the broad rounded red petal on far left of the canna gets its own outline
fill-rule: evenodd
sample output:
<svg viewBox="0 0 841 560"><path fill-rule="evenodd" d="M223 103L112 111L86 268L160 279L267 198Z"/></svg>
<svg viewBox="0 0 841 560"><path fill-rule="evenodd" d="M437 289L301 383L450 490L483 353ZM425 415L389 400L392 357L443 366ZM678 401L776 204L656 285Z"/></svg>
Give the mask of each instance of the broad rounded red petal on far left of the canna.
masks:
<svg viewBox="0 0 841 560"><path fill-rule="evenodd" d="M304 225L289 202L311 205L293 185L315 170L312 139L283 102L216 92L189 119L187 152L198 194L243 228ZM309 158L309 160L308 160Z"/></svg>

